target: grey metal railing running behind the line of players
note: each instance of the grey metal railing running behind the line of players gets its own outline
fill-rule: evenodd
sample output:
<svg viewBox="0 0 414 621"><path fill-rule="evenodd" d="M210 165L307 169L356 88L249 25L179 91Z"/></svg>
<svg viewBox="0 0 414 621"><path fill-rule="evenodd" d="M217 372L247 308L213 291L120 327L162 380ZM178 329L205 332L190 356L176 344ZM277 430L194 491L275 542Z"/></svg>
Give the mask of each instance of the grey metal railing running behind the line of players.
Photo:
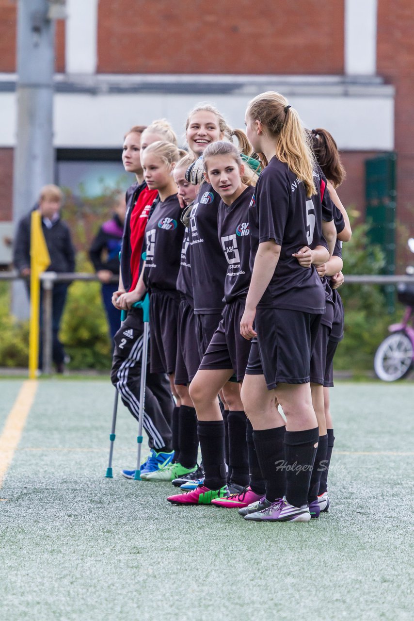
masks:
<svg viewBox="0 0 414 621"><path fill-rule="evenodd" d="M28 280L27 277L20 276L16 270L0 271L1 280ZM57 273L52 271L43 272L40 274L40 281L42 283L43 290L43 371L45 374L50 374L52 370L52 321L53 321L53 285L55 283L71 283L73 281L96 281L99 282L96 274L90 274L85 272L78 273ZM113 276L110 279L111 283L117 283L118 277ZM414 275L408 276L407 274L399 274L397 276L382 276L373 274L345 274L344 284L398 284L398 283L413 283Z"/></svg>

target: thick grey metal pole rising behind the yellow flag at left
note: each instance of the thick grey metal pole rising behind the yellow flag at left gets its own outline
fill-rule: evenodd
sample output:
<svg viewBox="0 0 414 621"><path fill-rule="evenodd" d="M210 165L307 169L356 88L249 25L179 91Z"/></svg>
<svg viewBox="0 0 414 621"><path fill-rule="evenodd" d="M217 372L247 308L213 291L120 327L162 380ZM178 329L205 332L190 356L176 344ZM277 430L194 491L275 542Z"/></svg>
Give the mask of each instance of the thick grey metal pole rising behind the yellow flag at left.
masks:
<svg viewBox="0 0 414 621"><path fill-rule="evenodd" d="M55 22L48 0L19 0L17 12L17 143L14 150L13 222L27 214L40 188L53 183L53 71ZM21 285L21 283L18 283ZM12 312L25 319L24 288L12 291Z"/></svg>

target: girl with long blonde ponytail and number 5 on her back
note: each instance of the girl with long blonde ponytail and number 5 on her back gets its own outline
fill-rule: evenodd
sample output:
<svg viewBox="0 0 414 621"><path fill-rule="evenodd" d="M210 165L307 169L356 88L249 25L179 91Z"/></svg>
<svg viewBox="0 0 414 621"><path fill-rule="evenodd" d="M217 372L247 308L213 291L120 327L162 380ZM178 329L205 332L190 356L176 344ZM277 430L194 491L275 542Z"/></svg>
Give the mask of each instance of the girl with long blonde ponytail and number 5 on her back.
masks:
<svg viewBox="0 0 414 621"><path fill-rule="evenodd" d="M320 186L305 130L285 97L273 92L254 97L245 120L265 168L250 213L253 273L240 330L252 345L241 396L254 428L266 497L252 505L254 512L246 514L249 507L240 512L246 520L307 522L319 437L310 355L325 312L325 291L315 266L302 267L294 255L312 242L315 227L322 230ZM284 433L279 433L275 399L286 416Z"/></svg>

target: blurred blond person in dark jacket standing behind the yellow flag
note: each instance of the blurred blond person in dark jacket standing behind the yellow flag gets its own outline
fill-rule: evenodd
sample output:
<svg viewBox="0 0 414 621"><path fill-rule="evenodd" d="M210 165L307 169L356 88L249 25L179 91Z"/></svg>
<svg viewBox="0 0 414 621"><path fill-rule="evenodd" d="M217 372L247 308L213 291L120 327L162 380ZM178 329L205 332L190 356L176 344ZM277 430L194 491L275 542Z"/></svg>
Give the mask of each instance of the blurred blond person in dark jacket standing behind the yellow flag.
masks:
<svg viewBox="0 0 414 621"><path fill-rule="evenodd" d="M47 185L40 191L38 204L35 209L42 215L42 230L45 236L47 249L50 255L50 265L47 271L58 273L74 271L74 248L70 230L60 218L60 208L63 193L58 186ZM16 237L14 238L13 263L21 276L30 276L30 220L31 212L19 222ZM29 280L27 290L30 294ZM68 283L55 283L52 297L52 358L57 373L65 369L65 350L58 338L60 321L65 308ZM42 369L42 291L40 296L40 343L39 369Z"/></svg>

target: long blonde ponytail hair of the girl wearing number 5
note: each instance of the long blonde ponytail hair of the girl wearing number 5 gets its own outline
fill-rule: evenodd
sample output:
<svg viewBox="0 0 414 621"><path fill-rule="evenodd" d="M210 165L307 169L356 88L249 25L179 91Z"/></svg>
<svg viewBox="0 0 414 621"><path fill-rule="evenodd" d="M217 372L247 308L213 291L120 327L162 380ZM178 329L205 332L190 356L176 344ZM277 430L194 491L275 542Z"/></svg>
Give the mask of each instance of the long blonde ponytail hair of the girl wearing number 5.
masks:
<svg viewBox="0 0 414 621"><path fill-rule="evenodd" d="M274 91L261 93L247 107L247 116L259 120L271 137L276 137L276 157L286 163L292 173L303 181L308 197L316 194L313 181L315 157L297 111L286 97ZM263 166L268 161L261 155Z"/></svg>

